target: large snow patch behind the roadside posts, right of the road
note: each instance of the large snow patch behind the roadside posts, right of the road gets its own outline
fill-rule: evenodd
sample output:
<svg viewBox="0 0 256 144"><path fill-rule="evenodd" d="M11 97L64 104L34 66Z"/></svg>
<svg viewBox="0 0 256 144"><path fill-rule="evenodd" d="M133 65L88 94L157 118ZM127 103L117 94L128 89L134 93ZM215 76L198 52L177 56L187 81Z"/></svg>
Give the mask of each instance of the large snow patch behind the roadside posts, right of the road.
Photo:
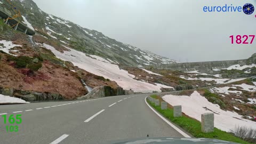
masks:
<svg viewBox="0 0 256 144"><path fill-rule="evenodd" d="M211 113L214 111L214 126L220 130L230 132L235 126L256 127L256 122L244 119L242 115L238 115L234 111L224 111L219 105L209 102L202 97L197 91L189 96L186 95L165 95L163 99L172 106L181 105L182 112L186 115L201 121L201 114ZM206 110L210 109L212 111Z"/></svg>

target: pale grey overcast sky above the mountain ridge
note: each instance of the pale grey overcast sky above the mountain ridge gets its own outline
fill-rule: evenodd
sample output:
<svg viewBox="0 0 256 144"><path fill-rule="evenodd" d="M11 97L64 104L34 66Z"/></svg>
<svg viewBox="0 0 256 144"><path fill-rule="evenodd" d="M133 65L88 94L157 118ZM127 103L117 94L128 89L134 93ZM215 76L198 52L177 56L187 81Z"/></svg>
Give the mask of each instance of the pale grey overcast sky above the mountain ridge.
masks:
<svg viewBox="0 0 256 144"><path fill-rule="evenodd" d="M254 44L230 35L256 35L256 11L203 12L203 6L243 6L256 0L33 0L44 12L117 41L182 62L245 59Z"/></svg>

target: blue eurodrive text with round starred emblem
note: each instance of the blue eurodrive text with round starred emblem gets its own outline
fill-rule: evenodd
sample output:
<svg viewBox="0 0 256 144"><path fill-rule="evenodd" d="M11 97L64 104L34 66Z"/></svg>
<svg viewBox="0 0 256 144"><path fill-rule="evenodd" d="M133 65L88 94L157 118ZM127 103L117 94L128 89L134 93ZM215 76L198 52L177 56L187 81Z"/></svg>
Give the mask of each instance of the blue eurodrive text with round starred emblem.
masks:
<svg viewBox="0 0 256 144"><path fill-rule="evenodd" d="M204 12L244 12L245 14L252 14L254 12L254 6L250 3L244 4L244 6L233 6L232 4L224 6L204 6ZM256 17L256 15L255 15Z"/></svg>

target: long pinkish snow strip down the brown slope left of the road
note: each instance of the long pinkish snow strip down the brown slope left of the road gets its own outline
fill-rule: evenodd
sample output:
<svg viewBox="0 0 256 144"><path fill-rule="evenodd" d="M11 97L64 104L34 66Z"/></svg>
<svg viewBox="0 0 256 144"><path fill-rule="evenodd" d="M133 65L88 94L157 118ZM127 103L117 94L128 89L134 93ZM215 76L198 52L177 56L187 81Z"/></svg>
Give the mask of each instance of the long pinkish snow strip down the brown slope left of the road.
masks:
<svg viewBox="0 0 256 144"><path fill-rule="evenodd" d="M137 81L133 79L135 77L134 75L129 74L126 70L120 69L117 65L92 59L87 57L85 53L73 49L69 49L70 51L64 51L61 53L50 45L43 45L46 49L51 50L57 58L73 62L75 66L89 71L92 74L111 79L125 90L131 89L135 92L161 91L161 86Z"/></svg>

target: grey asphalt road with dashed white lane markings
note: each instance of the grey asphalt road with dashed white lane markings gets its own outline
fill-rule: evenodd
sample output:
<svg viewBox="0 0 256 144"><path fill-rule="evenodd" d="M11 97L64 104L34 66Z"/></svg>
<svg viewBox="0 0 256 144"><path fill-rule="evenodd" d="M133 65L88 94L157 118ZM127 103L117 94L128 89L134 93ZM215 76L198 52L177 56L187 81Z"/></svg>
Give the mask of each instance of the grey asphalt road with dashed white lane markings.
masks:
<svg viewBox="0 0 256 144"><path fill-rule="evenodd" d="M145 103L147 94L94 100L0 106L0 143L105 143L149 137L183 137ZM121 101L122 100L122 101ZM21 124L2 117L21 114ZM18 132L6 132L18 125Z"/></svg>

